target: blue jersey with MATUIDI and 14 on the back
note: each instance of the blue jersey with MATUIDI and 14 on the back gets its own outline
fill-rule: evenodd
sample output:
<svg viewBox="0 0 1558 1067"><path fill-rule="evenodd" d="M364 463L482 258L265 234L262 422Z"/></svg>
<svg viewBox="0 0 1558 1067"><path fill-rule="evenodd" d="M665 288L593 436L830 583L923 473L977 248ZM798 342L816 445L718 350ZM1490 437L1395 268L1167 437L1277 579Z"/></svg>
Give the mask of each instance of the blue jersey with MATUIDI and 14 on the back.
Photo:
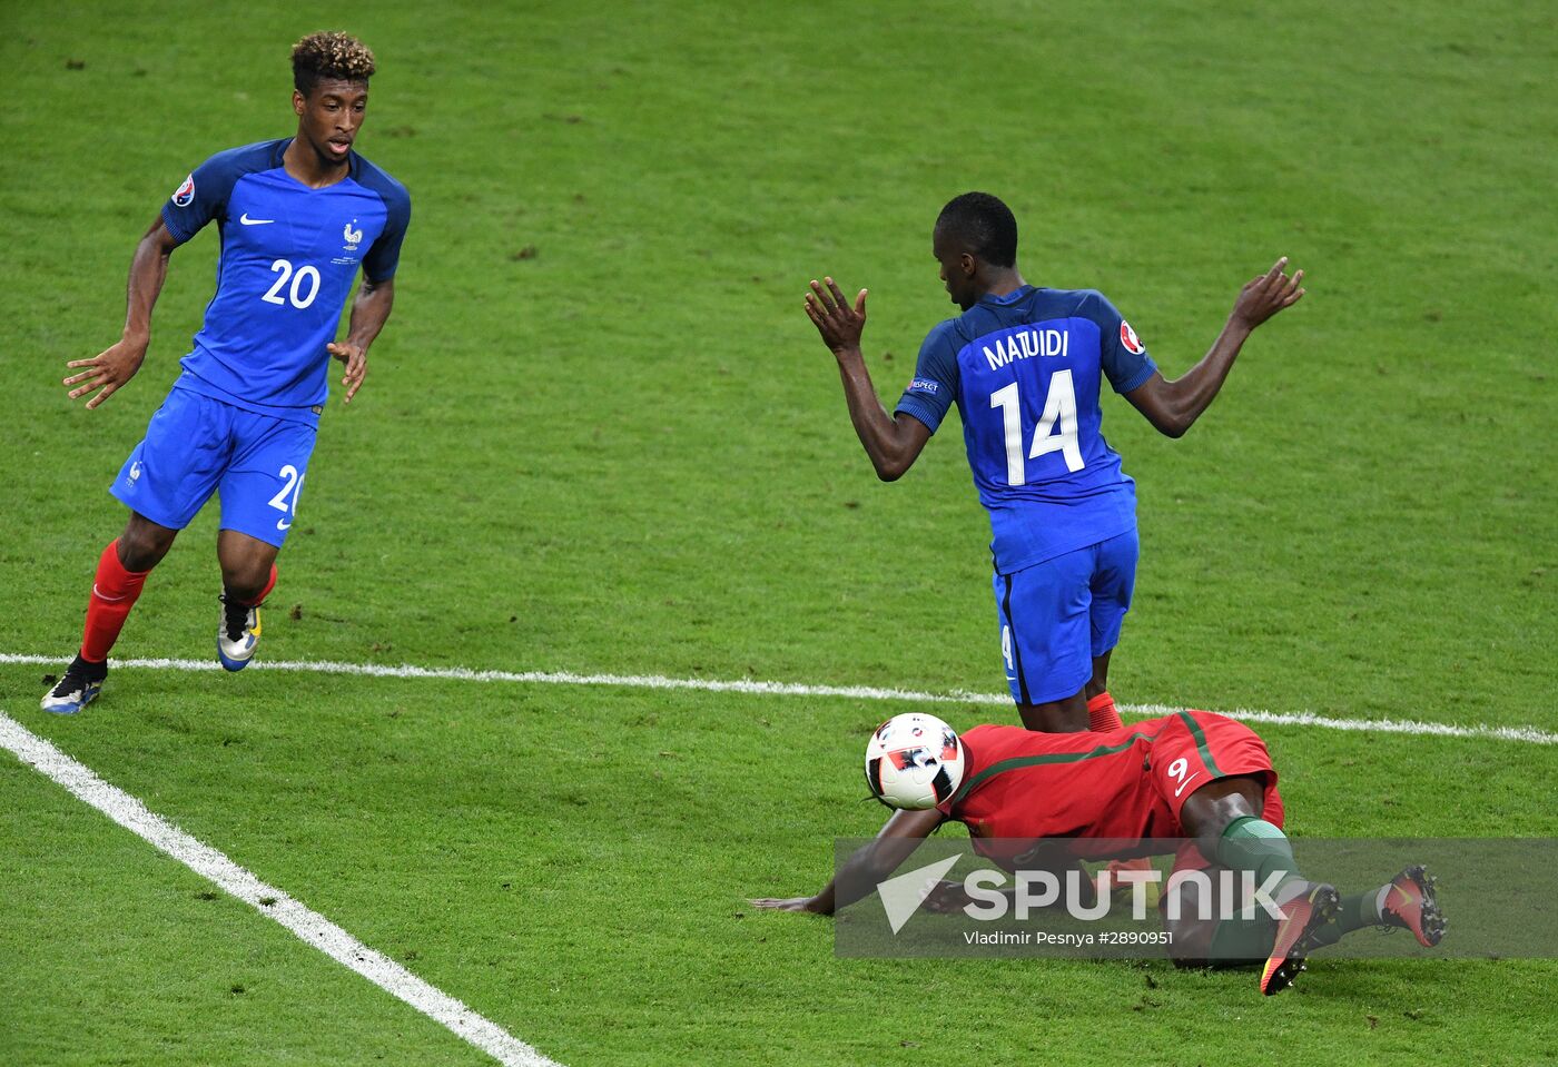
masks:
<svg viewBox="0 0 1558 1067"><path fill-rule="evenodd" d="M957 400L991 553L1011 573L1136 528L1136 484L1103 439L1102 379L1156 369L1102 293L1024 285L936 326L897 411L941 425Z"/></svg>

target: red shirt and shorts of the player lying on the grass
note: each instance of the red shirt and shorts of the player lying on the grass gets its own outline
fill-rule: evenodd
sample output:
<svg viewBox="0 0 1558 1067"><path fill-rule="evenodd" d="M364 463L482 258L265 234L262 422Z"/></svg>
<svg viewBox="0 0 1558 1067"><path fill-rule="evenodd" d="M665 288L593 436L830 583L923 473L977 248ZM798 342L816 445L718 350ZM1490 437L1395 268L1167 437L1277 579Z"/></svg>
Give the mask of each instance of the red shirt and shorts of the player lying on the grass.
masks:
<svg viewBox="0 0 1558 1067"><path fill-rule="evenodd" d="M1080 838L1084 858L1142 852L1102 840L1183 838L1179 808L1201 785L1264 774L1265 818L1282 824L1276 771L1265 745L1212 712L1176 712L1100 734L1039 734L1019 726L975 726L961 735L963 782L943 815L982 838L1014 843ZM1098 843L1089 849L1087 841ZM1151 850L1151 849L1147 849Z"/></svg>

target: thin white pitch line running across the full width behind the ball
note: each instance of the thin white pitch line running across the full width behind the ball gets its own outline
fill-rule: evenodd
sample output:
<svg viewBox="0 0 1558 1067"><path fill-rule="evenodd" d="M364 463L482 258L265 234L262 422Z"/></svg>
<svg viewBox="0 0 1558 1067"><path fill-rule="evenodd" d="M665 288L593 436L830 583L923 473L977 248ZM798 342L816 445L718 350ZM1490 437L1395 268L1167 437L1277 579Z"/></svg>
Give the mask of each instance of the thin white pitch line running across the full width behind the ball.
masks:
<svg viewBox="0 0 1558 1067"><path fill-rule="evenodd" d="M220 670L213 659L115 659L115 668L143 670ZM34 664L39 667L62 667L65 660L56 656L25 656L0 653L0 664ZM869 685L804 685L799 682L760 682L753 679L710 678L664 678L661 674L575 674L572 671L492 671L466 667L382 667L377 664L335 664L330 660L256 660L249 670L304 671L310 674L357 674L365 678L438 678L463 682L519 682L544 685L622 685L628 688L693 688L707 693L751 693L759 696L843 696L866 701L905 701L911 704L988 704L1010 707L1006 693L919 693L905 688L874 688ZM1122 704L1128 715L1151 718L1183 709L1167 704ZM1558 745L1558 734L1535 726L1486 726L1474 723L1424 723L1415 718L1331 718L1313 712L1264 712L1237 707L1221 712L1246 723L1270 723L1273 726L1313 726L1327 731L1354 731L1360 734L1410 734L1416 737L1471 737L1497 741L1522 741L1525 745Z"/></svg>

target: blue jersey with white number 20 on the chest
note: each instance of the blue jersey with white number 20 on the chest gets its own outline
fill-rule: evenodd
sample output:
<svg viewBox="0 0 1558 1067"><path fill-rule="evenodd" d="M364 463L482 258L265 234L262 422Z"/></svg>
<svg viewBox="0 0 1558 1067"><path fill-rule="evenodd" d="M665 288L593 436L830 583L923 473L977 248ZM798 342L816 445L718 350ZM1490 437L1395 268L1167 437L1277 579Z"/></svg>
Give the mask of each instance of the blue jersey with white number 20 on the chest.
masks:
<svg viewBox="0 0 1558 1067"><path fill-rule="evenodd" d="M358 266L394 276L411 198L357 153L346 178L310 188L282 165L290 143L212 156L162 209L181 243L213 220L221 234L217 294L176 388L316 424L341 305Z"/></svg>

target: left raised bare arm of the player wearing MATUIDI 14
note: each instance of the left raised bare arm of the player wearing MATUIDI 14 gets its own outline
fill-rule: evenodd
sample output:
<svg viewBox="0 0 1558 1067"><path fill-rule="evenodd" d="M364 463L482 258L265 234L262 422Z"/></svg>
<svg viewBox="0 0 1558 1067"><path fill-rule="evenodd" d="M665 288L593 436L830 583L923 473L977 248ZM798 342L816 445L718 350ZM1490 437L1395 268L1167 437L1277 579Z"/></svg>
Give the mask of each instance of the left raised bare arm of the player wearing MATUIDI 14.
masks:
<svg viewBox="0 0 1558 1067"><path fill-rule="evenodd" d="M871 466L882 481L904 477L919 458L930 430L919 419L896 417L882 407L871 372L860 354L860 335L866 326L866 290L860 290L854 307L830 277L812 282L805 294L805 313L838 360L838 377L844 383L844 400L849 405L849 421L855 427L860 444L865 445Z"/></svg>

